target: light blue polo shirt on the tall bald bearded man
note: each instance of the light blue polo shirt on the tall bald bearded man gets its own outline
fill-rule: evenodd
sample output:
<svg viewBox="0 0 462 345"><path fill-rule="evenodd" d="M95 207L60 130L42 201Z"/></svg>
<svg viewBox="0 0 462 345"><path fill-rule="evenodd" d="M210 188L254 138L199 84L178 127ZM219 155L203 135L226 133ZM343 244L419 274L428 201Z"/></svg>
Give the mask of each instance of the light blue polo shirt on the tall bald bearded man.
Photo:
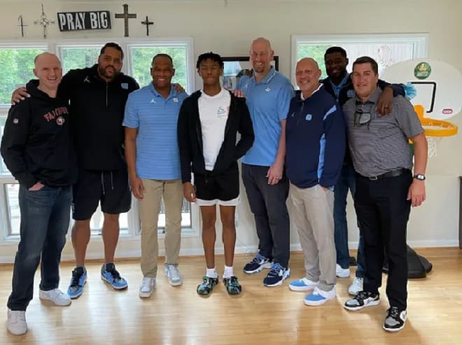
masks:
<svg viewBox="0 0 462 345"><path fill-rule="evenodd" d="M259 83L244 76L236 88L244 92L255 133L253 146L241 161L269 167L276 160L281 120L287 118L290 99L295 95L292 84L272 67Z"/></svg>

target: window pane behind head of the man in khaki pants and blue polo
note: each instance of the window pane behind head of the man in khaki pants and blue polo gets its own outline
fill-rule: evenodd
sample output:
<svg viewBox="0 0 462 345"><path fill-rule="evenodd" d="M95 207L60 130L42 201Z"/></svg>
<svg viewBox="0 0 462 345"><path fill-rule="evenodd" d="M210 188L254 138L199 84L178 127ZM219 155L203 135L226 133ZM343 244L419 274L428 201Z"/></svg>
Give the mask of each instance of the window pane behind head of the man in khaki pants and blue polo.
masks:
<svg viewBox="0 0 462 345"><path fill-rule="evenodd" d="M135 78L141 87L151 83L151 62L153 57L159 53L168 54L172 57L175 76L172 83L179 83L187 87L186 75L186 47L131 47L130 57L132 59L131 76Z"/></svg>

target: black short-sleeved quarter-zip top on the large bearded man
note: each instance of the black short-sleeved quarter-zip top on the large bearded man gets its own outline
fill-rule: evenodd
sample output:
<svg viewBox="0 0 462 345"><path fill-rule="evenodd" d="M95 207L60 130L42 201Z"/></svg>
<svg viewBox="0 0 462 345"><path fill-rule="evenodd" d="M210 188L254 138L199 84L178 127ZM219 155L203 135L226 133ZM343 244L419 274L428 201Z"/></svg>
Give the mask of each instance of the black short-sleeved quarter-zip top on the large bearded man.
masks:
<svg viewBox="0 0 462 345"><path fill-rule="evenodd" d="M122 126L128 94L139 89L123 73L106 83L97 65L73 69L62 78L58 96L70 100L79 168L117 170L125 166Z"/></svg>

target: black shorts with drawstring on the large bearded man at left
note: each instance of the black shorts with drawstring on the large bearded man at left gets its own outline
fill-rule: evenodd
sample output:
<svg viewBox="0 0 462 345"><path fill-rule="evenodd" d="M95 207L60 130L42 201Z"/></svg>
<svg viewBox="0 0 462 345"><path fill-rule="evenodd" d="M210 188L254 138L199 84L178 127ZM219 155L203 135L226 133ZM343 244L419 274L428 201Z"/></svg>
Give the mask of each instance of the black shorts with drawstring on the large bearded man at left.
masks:
<svg viewBox="0 0 462 345"><path fill-rule="evenodd" d="M130 210L132 194L127 169L78 171L77 183L73 185L72 218L92 218L99 202L104 213L118 214Z"/></svg>

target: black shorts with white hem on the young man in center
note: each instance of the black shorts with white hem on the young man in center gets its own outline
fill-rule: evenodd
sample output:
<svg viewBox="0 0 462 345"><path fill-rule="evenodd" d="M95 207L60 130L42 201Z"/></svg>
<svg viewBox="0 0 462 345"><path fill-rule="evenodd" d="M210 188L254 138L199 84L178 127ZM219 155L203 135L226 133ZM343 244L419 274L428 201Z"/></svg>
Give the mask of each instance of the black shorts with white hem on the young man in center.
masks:
<svg viewBox="0 0 462 345"><path fill-rule="evenodd" d="M239 197L239 170L232 169L219 175L211 171L204 175L194 174L194 185L197 199L227 202Z"/></svg>

